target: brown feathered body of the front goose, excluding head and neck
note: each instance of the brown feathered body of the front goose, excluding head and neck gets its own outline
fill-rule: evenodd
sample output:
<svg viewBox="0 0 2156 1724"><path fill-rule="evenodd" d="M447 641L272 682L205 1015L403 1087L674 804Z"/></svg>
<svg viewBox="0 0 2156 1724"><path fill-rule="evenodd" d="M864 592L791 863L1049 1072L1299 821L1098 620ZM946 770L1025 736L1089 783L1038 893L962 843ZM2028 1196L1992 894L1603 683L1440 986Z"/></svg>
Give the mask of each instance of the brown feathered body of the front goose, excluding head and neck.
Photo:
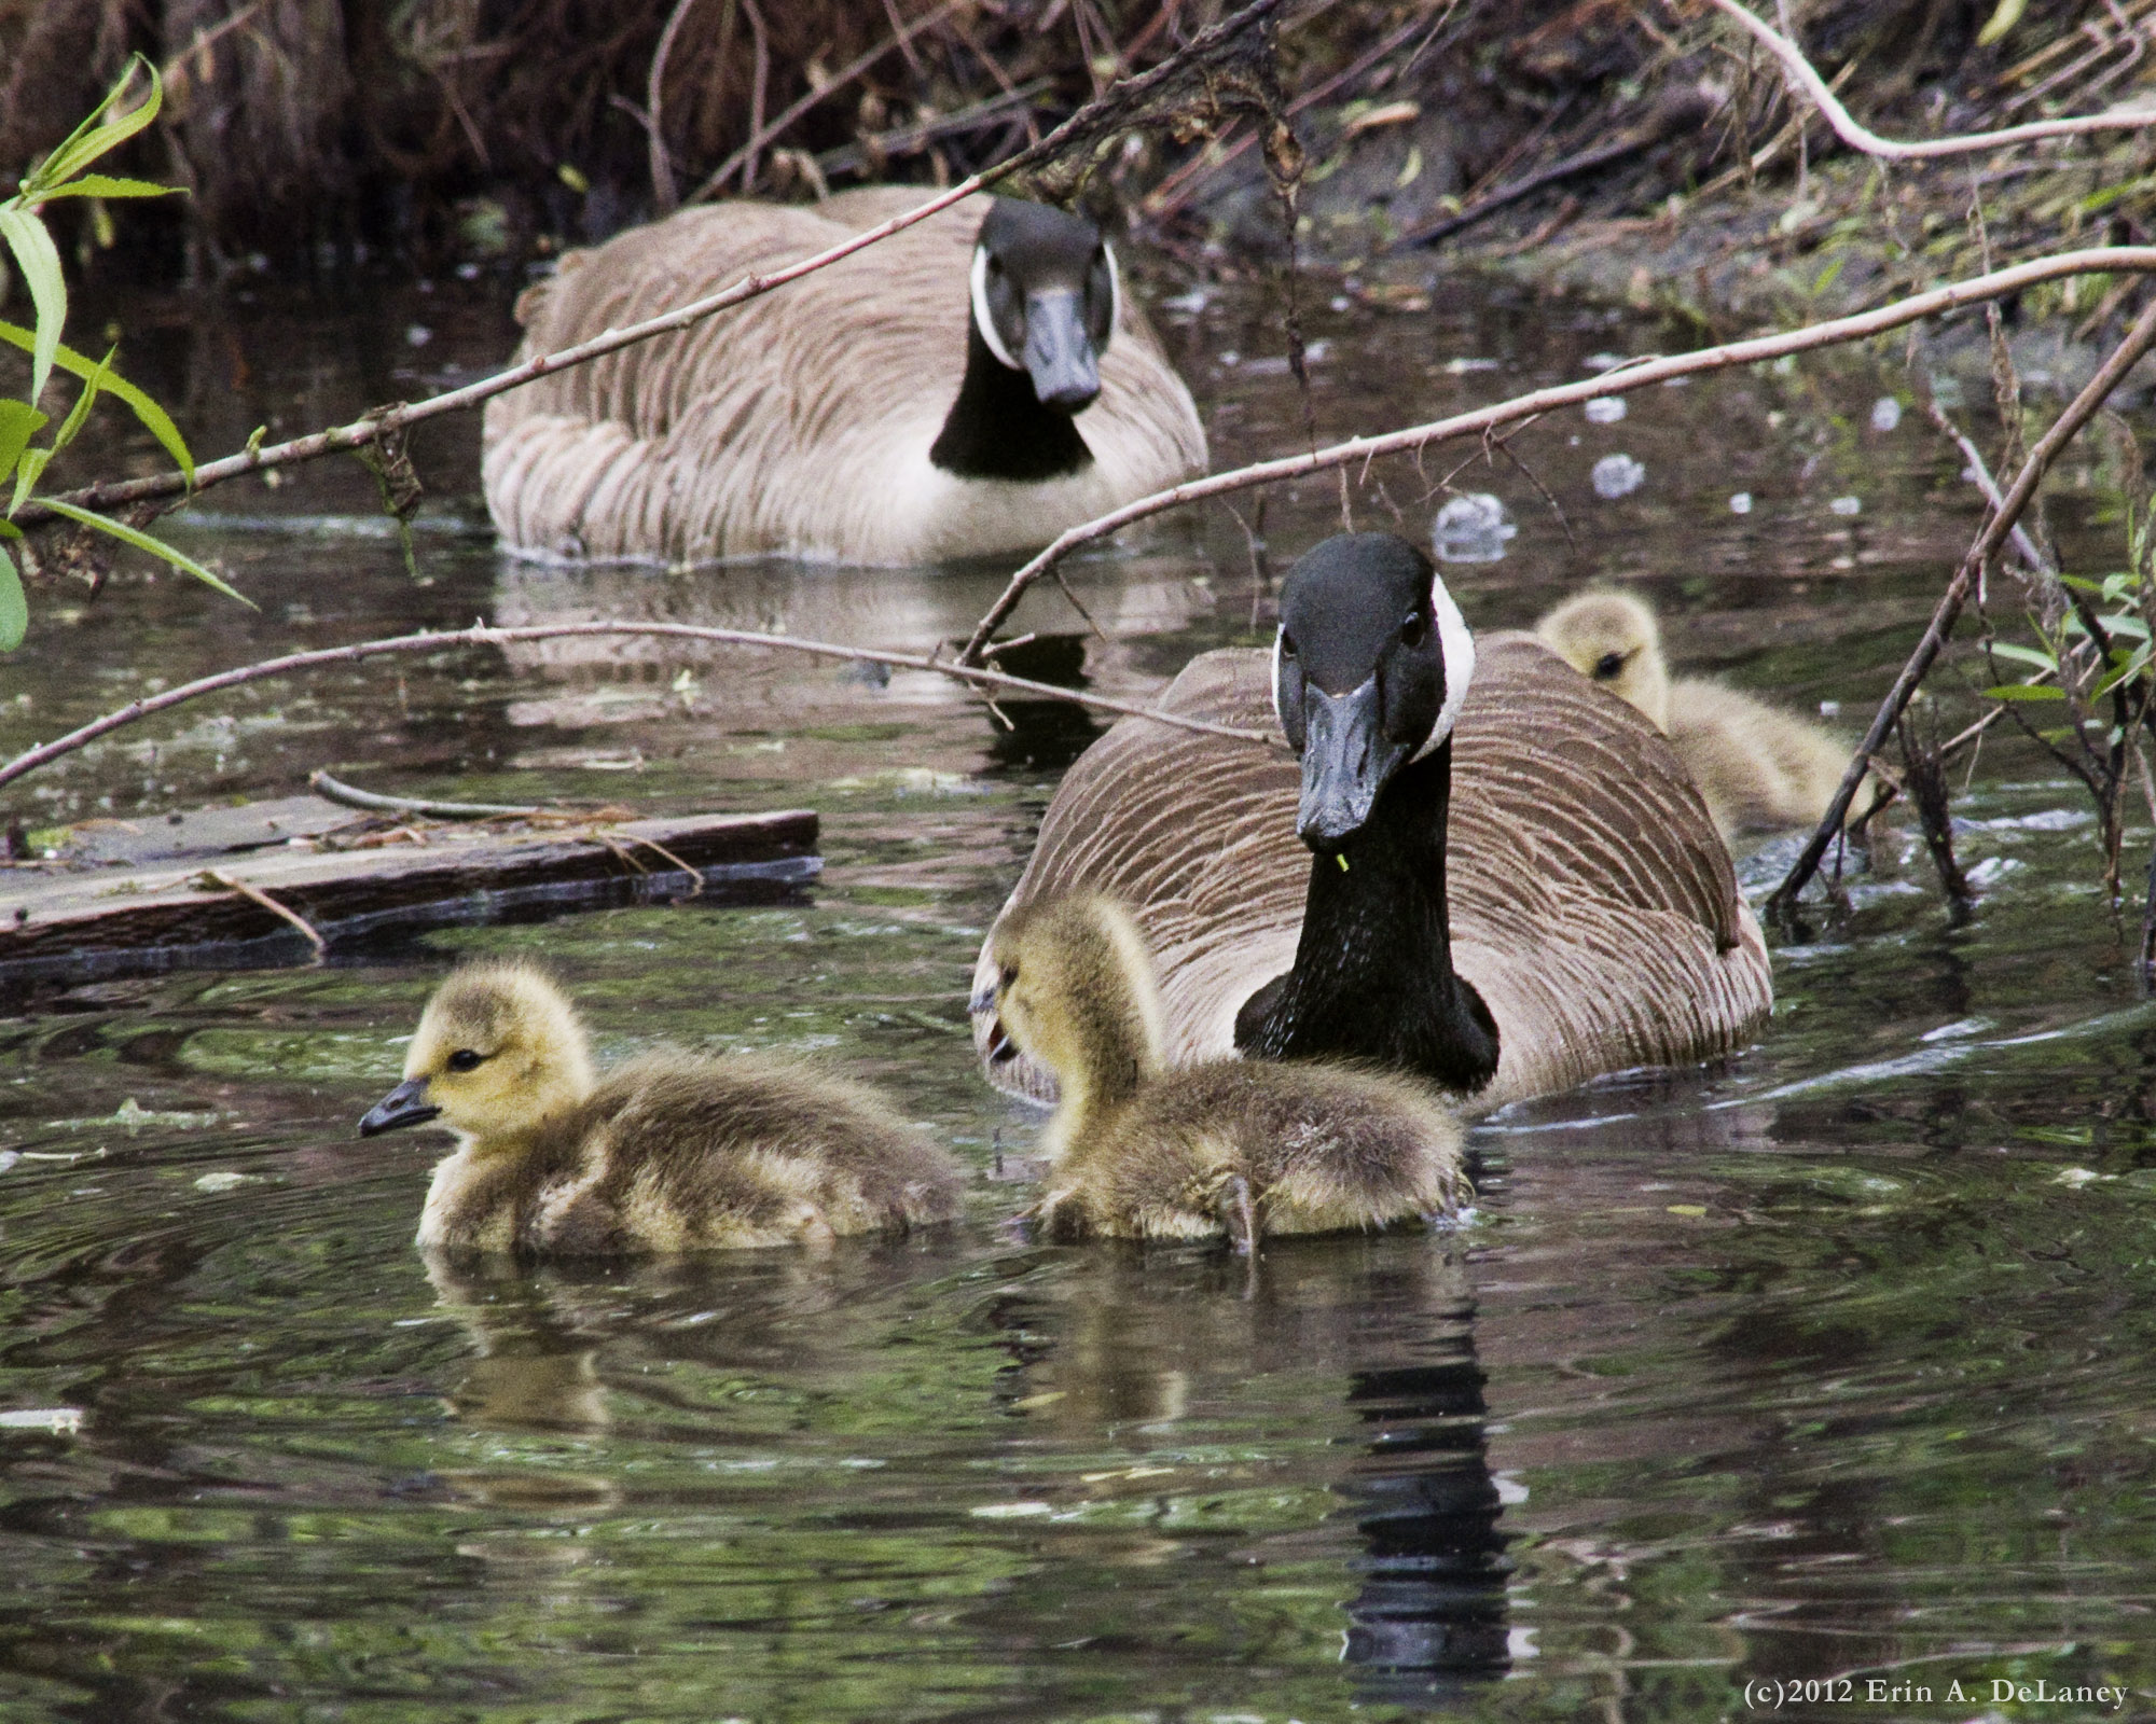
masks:
<svg viewBox="0 0 2156 1724"><path fill-rule="evenodd" d="M1276 728L1270 677L1263 653L1205 653L1162 705ZM1518 634L1477 640L1453 735L1453 965L1501 1049L1475 1103L1742 1045L1772 1004L1766 942L1667 739ZM1298 782L1285 748L1121 720L1065 776L1011 903L1080 886L1130 903L1160 961L1171 1062L1229 1056L1242 1002L1296 957ZM985 965L983 950L981 983ZM1024 1058L990 1075L1054 1095Z"/></svg>

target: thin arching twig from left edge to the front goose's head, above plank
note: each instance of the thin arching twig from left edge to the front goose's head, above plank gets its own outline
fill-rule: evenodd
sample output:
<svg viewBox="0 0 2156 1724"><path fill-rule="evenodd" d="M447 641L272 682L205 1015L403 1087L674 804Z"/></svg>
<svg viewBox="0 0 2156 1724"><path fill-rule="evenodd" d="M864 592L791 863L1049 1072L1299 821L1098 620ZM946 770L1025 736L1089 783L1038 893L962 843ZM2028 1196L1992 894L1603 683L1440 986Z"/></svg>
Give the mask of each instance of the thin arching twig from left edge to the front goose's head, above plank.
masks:
<svg viewBox="0 0 2156 1724"><path fill-rule="evenodd" d="M468 629L429 629L423 634L390 636L388 640L360 640L351 646L321 646L310 653L287 653L285 657L220 670L213 677L196 677L192 683L168 687L162 694L144 694L140 700L129 700L119 711L110 711L103 718L95 718L88 724L69 731L58 741L39 743L37 748L17 754L6 765L0 765L0 784L9 784L26 771L34 771L63 754L73 754L84 743L93 743L112 731L136 724L151 713L162 713L168 707L179 707L185 700L198 700L205 694L239 687L241 683L257 683L265 677L289 677L298 670L317 670L330 664L360 664L388 653L436 653L448 646L511 646L526 640L569 640L576 636L649 636L660 640L696 640L718 646L768 646L785 653L849 659L854 664L888 664L897 670L934 670L938 677L951 677L957 683L970 683L975 687L1000 687L1011 690L1013 694L1033 694L1044 700L1072 700L1080 707L1097 707L1100 711L1125 718L1151 718L1158 724L1173 724L1177 731L1199 731L1210 737L1229 737L1231 741L1279 746L1279 737L1272 737L1266 731L1238 731L1229 724L1212 724L1203 718L1160 711L1158 707L1141 707L1136 700L1115 700L1106 694L1084 694L1074 687L1056 687L1054 683L1035 683L1028 677L1009 677L1000 670L983 670L979 666L923 657L921 653L882 653L871 646L837 646L828 640L800 640L796 636L755 634L750 629L705 629L692 623L526 623L513 629L494 629L485 623L474 623Z"/></svg>

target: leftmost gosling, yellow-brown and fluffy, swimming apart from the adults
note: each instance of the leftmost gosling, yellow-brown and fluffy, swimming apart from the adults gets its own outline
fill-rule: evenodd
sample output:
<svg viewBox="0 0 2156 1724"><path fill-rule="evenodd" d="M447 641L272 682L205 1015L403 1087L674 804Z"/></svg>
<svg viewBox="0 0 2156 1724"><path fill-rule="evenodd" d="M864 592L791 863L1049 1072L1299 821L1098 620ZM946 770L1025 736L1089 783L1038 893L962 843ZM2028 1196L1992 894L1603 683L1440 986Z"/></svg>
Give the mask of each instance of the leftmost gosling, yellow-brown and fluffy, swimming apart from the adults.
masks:
<svg viewBox="0 0 2156 1724"><path fill-rule="evenodd" d="M457 970L362 1136L440 1118L423 1248L621 1256L821 1243L946 1222L955 1162L873 1093L776 1060L645 1054L593 1078L584 1026L524 963Z"/></svg>

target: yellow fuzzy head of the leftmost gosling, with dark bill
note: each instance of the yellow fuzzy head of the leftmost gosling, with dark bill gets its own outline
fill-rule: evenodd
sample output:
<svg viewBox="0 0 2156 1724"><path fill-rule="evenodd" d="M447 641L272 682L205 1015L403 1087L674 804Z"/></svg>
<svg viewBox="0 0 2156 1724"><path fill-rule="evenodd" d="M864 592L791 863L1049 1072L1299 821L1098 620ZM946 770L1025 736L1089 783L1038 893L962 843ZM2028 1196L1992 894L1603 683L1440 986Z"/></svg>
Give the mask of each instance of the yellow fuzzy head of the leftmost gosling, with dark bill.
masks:
<svg viewBox="0 0 2156 1724"><path fill-rule="evenodd" d="M526 963L472 963L418 1019L405 1080L367 1110L360 1136L440 1118L474 1144L520 1142L591 1093L576 1006Z"/></svg>

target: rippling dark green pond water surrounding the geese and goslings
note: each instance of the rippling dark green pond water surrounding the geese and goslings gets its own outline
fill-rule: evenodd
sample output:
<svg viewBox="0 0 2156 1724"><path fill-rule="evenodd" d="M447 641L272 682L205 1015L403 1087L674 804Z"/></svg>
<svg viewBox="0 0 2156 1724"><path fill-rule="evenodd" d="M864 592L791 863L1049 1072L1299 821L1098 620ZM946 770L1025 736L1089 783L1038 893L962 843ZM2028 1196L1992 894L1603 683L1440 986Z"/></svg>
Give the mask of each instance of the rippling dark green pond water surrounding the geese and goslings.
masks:
<svg viewBox="0 0 2156 1724"><path fill-rule="evenodd" d="M119 317L205 453L507 345L476 289ZM1322 435L1667 338L1470 289L1335 306L1311 334ZM1175 336L1216 459L1300 437L1261 304ZM1919 416L1871 427L1893 392L1841 358L1535 427L1516 448L1572 537L1520 470L1477 461L1457 483L1501 493L1520 537L1451 584L1494 627L1591 575L1636 582L1680 662L1854 720L1973 515ZM420 586L347 465L229 487L179 528L259 616L140 571L95 606L47 599L0 670L0 748L155 679L474 614L925 646L1000 584L500 562L470 530L474 440L420 448ZM1602 500L1613 453L1645 483ZM2076 567L2102 567L2100 483L2063 491ZM1846 496L1861 513L1833 511ZM1354 506L1427 532L1412 468ZM1337 519L1328 485L1274 496L1276 560ZM1084 649L1102 690L1263 638L1227 515L1087 558L1074 588L1106 631ZM1082 631L1031 603L1028 627ZM543 953L608 1056L813 1049L983 1172L998 1138L1022 1149L964 991L1082 726L1020 718L1007 739L925 679L582 642L259 685L15 787L32 825L293 793L317 765L655 812L815 806L828 868L774 907L461 929L9 1009L0 1720L2156 1711L2156 1006L2085 797L2027 748L1988 748L1960 808L1984 884L1966 927L1921 851L1887 845L1846 916L1779 950L1757 1047L1483 1125L1455 1235L1307 1241L1250 1274L1050 1250L1005 1226L1024 1187L983 1177L949 1237L828 1261L429 1276L410 1237L442 1144L351 1123L464 953ZM1777 1705L1774 1681L1846 1698ZM2022 1705L1996 1681L2130 1698Z"/></svg>

